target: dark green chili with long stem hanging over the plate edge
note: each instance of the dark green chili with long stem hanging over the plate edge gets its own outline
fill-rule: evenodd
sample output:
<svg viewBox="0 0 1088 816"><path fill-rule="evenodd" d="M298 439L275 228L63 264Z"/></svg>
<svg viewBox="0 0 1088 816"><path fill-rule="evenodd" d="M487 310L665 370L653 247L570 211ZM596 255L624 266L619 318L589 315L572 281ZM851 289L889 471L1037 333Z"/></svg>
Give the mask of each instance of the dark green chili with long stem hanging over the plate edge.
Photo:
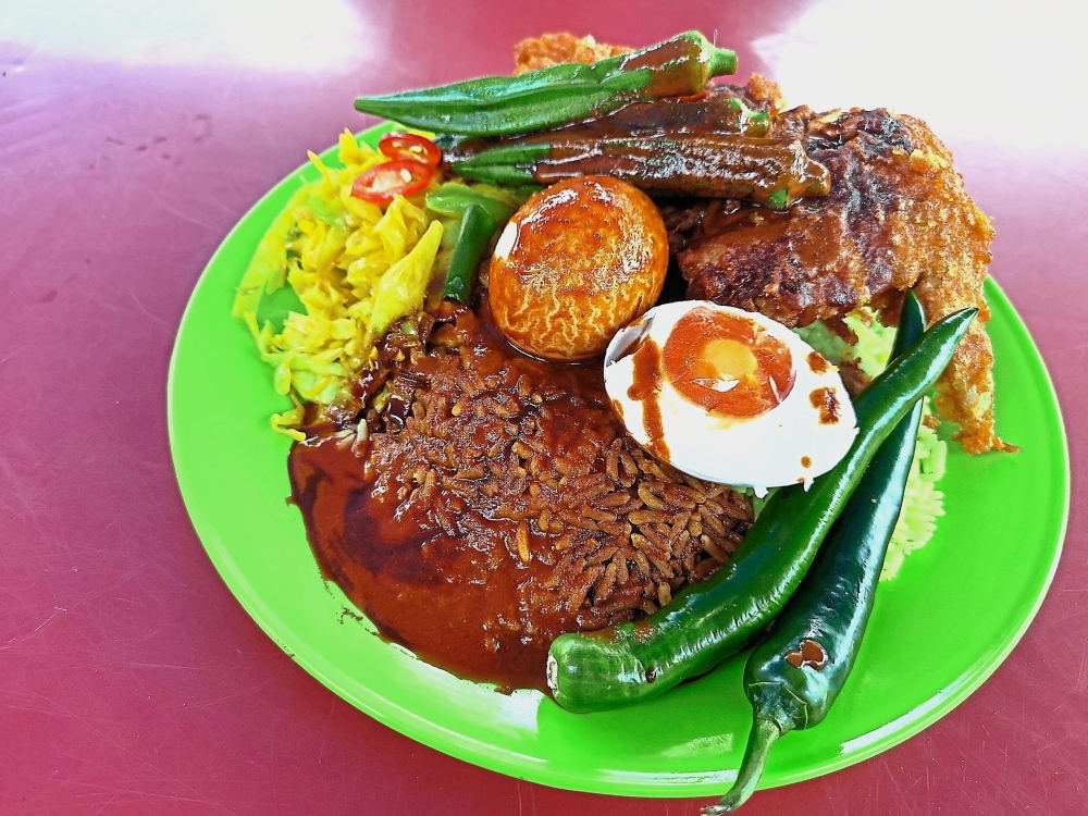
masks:
<svg viewBox="0 0 1088 816"><path fill-rule="evenodd" d="M925 330L914 293L907 295L892 355ZM771 745L794 729L821 722L846 680L903 507L922 422L922 400L873 457L796 594L744 667L744 693L755 716L733 787L708 816L732 813L755 791Z"/></svg>

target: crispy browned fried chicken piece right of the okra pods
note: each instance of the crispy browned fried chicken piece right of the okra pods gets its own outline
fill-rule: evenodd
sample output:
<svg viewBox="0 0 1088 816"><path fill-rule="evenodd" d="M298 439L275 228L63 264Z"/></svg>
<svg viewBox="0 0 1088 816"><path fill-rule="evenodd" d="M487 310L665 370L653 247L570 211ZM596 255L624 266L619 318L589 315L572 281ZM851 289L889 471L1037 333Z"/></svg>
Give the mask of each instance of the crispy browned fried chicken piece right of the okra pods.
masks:
<svg viewBox="0 0 1088 816"><path fill-rule="evenodd" d="M831 171L830 195L788 212L718 202L673 235L688 296L759 311L789 326L861 306L898 320L914 288L930 322L977 306L978 320L938 383L937 409L960 425L968 453L1015 449L994 434L993 353L982 282L993 230L952 169L952 154L920 120L885 110L783 113L775 135L800 136ZM672 219L677 220L676 217ZM667 219L666 223L669 223Z"/></svg>

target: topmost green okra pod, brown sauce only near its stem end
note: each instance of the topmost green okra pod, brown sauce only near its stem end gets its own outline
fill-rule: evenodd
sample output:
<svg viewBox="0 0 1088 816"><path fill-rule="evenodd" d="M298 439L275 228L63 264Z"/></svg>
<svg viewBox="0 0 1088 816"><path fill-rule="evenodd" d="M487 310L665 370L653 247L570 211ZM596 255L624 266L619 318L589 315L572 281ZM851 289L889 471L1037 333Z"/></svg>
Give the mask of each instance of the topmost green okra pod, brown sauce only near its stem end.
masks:
<svg viewBox="0 0 1088 816"><path fill-rule="evenodd" d="M607 113L632 101L690 96L712 77L735 70L735 53L687 32L592 65L564 63L518 76L360 97L355 107L437 133L498 136Z"/></svg>

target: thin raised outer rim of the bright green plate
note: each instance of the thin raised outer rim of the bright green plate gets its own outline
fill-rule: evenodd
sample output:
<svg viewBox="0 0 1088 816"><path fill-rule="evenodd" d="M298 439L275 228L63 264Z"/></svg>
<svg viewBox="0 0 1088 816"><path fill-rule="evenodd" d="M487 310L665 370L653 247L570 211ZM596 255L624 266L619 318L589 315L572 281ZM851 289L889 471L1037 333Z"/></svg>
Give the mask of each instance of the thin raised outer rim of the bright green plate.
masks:
<svg viewBox="0 0 1088 816"><path fill-rule="evenodd" d="M393 129L394 127L396 127L395 123L383 122L374 125L373 127L363 129L355 134L355 136L357 139L373 139L381 134ZM333 145L329 149L322 151L319 156L322 160L326 160L330 156L334 157L335 151L336 146ZM339 678L339 675L343 672L338 668L333 667L323 655L316 651L307 652L305 648L299 650L284 641L284 639L277 633L276 625L279 625L279 629L281 631L284 629L289 631L290 627L287 627L282 618L267 603L264 603L264 599L261 598L251 585L247 583L245 577L237 568L237 565L228 557L227 548L223 546L222 542L220 542L220 536L217 531L212 529L212 524L206 520L198 521L198 518L194 516L194 512L190 509L190 504L194 502L193 490L191 486L186 486L187 480L183 475L184 467L178 467L178 431L176 429L178 417L172 398L175 387L178 359L181 356L180 349L183 345L182 341L185 327L191 318L194 309L196 308L195 304L198 299L201 286L205 284L210 271L217 264L220 256L227 251L228 245L231 245L237 233L243 228L245 222L247 222L249 218L252 217L255 211L260 209L268 199L276 195L285 185L297 182L301 174L307 172L307 169L311 166L312 165L309 162L305 162L296 170L285 175L280 182L274 184L249 209L247 209L247 211L235 222L232 228L223 237L193 285L193 289L177 324L177 332L175 334L170 356L165 387L166 430L174 475L178 490L182 494L183 503L185 504L189 523L197 533L197 537L200 540L201 547L205 553L215 567L220 578L226 584L227 590L231 592L234 599L243 607L243 609L245 609L246 614L249 615L255 622L257 622L261 630L283 652L285 652L295 663L297 663L304 670L306 670L307 673L312 676L322 685L379 722L382 722L405 737L428 745L436 751L514 778L526 779L541 784L588 793L628 796L642 795L650 798L710 796L716 793L720 793L725 787L727 787L726 783L720 781L718 778L695 779L695 777L705 776L697 772L663 772L654 776L645 774L636 775L635 772L631 772L630 778L608 781L604 780L602 777L574 775L565 770L562 767L555 767L547 762L531 764L527 767L526 765L517 762L517 757L519 755L489 742L467 737L458 731L445 728L433 720L421 717L398 703L394 703L388 697L382 696L378 692L364 685L348 689ZM240 272L242 270L239 270L239 280ZM967 682L957 684L947 694L938 693L934 697L927 700L922 706L918 706L914 710L907 712L901 717L891 720L880 729L887 729L886 733L867 742L864 746L861 746L853 752L842 753L820 763L819 770L816 772L812 772L811 768L800 769L793 772L784 772L779 778L775 779L774 783L762 783L759 786L761 790L792 784L806 779L813 779L864 762L865 759L871 758L873 756L876 756L877 754L911 739L929 726L934 725L937 720L951 713L955 707L970 696L970 694L985 683L986 680L993 675L998 667L1000 667L1007 659L1009 655L1016 647L1024 634L1027 632L1031 622L1035 620L1039 609L1049 594L1050 586L1053 582L1058 565L1064 551L1065 536L1068 528L1068 516L1072 500L1072 463L1070 458L1068 432L1065 426L1064 416L1058 397L1058 392L1054 387L1053 378L1051 376L1050 370L1046 364L1046 359L1040 353L1035 338L1031 336L1023 318L1016 311L1007 295L1005 295L1004 290L989 275L987 276L985 286L987 295L997 295L998 299L1002 301L1002 307L1005 311L1007 311L1006 317L1010 319L1007 330L1015 335L1018 343L1026 345L1026 349L1033 355L1034 361L1038 363L1037 366L1033 366L1033 369L1037 369L1036 373L1041 373L1042 375L1042 381L1047 386L1047 393L1043 396L1047 397L1046 401L1048 407L1053 409L1059 431L1058 438L1053 442L1060 443L1061 447L1061 477L1063 489L1061 522L1059 524L1056 546L1054 548L1053 557L1048 565L1047 574L1040 586L1040 591L1036 594L1030 609L1024 616L1021 623L1014 630L1011 630L1010 634L1001 643L1000 650L994 652L993 655L988 658L985 667L981 670L974 672ZM269 433L271 434L271 431L269 431ZM917 714L919 708L924 708L925 710L922 714ZM904 719L905 722L903 722L903 725L898 728L892 728L892 726L897 722ZM539 769L540 772L531 772L529 768ZM620 787L622 790L605 790L605 788L618 789Z"/></svg>

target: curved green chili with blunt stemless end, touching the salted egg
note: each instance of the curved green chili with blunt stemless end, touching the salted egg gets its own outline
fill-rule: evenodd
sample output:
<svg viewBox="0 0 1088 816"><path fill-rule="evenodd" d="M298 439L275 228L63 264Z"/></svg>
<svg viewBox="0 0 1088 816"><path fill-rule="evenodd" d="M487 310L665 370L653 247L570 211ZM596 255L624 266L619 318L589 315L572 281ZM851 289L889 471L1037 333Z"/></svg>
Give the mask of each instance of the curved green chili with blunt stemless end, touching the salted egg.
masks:
<svg viewBox="0 0 1088 816"><path fill-rule="evenodd" d="M556 702L572 712L630 705L747 645L796 590L869 460L940 376L977 313L964 309L941 320L892 362L854 401L858 431L842 461L808 491L792 485L775 493L714 576L645 620L557 638L547 662Z"/></svg>

